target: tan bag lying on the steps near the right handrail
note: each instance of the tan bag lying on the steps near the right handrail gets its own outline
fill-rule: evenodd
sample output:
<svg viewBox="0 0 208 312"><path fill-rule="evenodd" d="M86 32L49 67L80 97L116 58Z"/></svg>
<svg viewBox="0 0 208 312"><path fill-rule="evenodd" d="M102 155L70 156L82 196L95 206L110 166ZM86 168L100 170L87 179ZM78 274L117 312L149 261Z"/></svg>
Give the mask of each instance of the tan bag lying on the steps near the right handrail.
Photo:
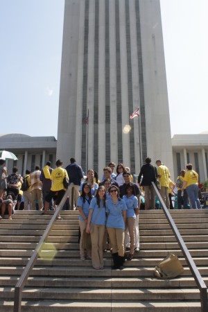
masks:
<svg viewBox="0 0 208 312"><path fill-rule="evenodd" d="M159 279L173 279L182 274L184 268L175 254L169 254L155 266L154 272Z"/></svg>

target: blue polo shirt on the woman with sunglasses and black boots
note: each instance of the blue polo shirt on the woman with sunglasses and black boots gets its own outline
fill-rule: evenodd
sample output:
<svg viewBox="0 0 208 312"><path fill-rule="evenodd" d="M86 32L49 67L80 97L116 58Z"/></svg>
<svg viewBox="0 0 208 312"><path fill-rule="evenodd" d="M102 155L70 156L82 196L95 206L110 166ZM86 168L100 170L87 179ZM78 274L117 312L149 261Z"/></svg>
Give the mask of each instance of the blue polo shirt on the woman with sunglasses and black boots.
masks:
<svg viewBox="0 0 208 312"><path fill-rule="evenodd" d="M112 198L106 202L107 223L106 227L112 227L114 229L125 229L123 221L123 211L127 210L125 201L120 199L114 204Z"/></svg>

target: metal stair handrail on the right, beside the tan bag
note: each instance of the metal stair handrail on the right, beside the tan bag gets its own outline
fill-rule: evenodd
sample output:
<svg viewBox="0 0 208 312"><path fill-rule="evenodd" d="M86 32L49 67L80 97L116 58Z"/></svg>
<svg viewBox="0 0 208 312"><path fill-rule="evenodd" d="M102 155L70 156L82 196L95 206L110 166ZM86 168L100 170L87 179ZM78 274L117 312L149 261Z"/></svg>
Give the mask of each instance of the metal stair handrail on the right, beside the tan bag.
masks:
<svg viewBox="0 0 208 312"><path fill-rule="evenodd" d="M187 245L184 243L184 240L182 239L182 236L180 235L180 232L177 229L177 226L175 225L175 222L173 221L173 218L171 217L170 212L168 211L164 200L162 199L156 185L154 182L152 182L153 188L155 189L155 193L157 194L157 197L159 198L159 202L162 205L162 209L164 211L164 214L166 215L166 218L168 220L169 225L171 226L171 229L173 230L173 234L175 235L175 239L177 239L177 243L180 245L180 249L182 250L182 253L187 261L187 264L189 266L189 269L191 270L191 273L193 275L193 278L196 281L196 284L200 290L200 302L201 302L201 312L207 312L207 286L205 284L205 281L202 279L202 276L200 275L200 272L198 268L196 267L195 262L193 261L193 258L191 257L191 254L187 248Z"/></svg>

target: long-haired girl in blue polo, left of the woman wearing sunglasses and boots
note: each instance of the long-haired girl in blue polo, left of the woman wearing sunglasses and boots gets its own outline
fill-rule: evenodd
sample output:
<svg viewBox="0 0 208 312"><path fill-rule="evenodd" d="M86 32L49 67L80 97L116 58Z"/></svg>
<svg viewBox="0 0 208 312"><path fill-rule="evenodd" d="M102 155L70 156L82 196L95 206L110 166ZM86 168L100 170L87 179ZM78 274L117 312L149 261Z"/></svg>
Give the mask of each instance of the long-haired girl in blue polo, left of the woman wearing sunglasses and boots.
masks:
<svg viewBox="0 0 208 312"><path fill-rule="evenodd" d="M92 266L95 270L103 269L103 237L105 233L105 187L98 187L96 196L89 207L86 232L91 234L92 241Z"/></svg>

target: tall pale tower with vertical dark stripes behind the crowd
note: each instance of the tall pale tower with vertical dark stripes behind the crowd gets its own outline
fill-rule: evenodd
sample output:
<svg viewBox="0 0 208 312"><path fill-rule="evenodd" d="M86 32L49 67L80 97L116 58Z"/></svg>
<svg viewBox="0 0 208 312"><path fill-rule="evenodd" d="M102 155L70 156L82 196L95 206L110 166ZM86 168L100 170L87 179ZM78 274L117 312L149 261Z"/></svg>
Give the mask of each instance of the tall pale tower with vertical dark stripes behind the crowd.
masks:
<svg viewBox="0 0 208 312"><path fill-rule="evenodd" d="M173 173L159 0L65 0L57 157L101 176L147 156Z"/></svg>

